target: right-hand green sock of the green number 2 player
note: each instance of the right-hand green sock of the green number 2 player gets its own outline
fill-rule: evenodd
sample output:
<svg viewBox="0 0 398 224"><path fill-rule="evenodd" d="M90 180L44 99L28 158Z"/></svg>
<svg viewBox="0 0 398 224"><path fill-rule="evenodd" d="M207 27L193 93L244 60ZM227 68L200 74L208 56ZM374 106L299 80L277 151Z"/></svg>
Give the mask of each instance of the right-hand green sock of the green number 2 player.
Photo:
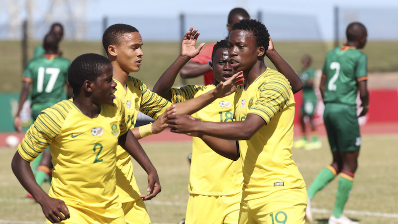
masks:
<svg viewBox="0 0 398 224"><path fill-rule="evenodd" d="M334 205L333 216L336 218L343 215L345 203L348 200L354 181L354 174L346 170L341 170L339 187L336 195L336 204Z"/></svg>

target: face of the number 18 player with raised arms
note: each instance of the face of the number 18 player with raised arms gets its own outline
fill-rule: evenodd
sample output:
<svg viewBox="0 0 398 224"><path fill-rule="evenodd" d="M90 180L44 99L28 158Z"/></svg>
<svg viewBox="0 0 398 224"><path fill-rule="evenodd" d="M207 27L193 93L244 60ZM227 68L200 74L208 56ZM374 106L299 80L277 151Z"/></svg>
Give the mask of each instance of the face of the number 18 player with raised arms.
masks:
<svg viewBox="0 0 398 224"><path fill-rule="evenodd" d="M218 48L213 59L212 70L214 73L214 79L218 82L224 82L231 78L234 73L232 72L232 67L229 63L228 48Z"/></svg>

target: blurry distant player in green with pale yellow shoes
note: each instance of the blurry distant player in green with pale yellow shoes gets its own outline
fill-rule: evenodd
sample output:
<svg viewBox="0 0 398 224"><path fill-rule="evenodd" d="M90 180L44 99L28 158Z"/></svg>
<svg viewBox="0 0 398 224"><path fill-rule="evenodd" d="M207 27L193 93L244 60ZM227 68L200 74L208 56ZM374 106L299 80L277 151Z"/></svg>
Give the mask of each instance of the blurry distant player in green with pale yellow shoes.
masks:
<svg viewBox="0 0 398 224"><path fill-rule="evenodd" d="M304 148L305 150L319 149L321 147L321 142L318 140L316 134L316 128L313 120L313 115L315 113L316 98L314 91L314 78L315 70L311 66L311 57L309 55L304 55L301 59L302 71L300 72L300 79L302 81L302 106L300 110L300 124L302 131L302 138L297 140L293 147ZM311 125L311 135L312 141L308 141L307 134L305 131L305 121L304 117L309 118L309 124Z"/></svg>

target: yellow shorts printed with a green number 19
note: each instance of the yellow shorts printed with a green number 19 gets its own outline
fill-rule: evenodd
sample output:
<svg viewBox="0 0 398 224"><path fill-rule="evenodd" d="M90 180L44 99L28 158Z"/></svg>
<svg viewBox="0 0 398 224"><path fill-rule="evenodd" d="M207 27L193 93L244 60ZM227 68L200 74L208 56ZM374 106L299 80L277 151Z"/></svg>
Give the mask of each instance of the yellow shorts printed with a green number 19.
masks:
<svg viewBox="0 0 398 224"><path fill-rule="evenodd" d="M266 197L242 201L239 224L304 224L305 188L277 191Z"/></svg>

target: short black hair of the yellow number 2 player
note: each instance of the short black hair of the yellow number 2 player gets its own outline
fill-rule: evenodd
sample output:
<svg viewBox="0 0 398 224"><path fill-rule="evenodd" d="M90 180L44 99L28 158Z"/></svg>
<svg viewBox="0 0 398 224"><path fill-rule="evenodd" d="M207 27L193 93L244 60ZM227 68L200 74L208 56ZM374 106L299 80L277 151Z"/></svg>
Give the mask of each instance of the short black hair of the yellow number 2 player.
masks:
<svg viewBox="0 0 398 224"><path fill-rule="evenodd" d="M68 70L68 82L73 89L73 95L80 93L80 88L86 80L95 82L103 73L103 67L110 64L109 59L99 54L82 54L73 60Z"/></svg>

